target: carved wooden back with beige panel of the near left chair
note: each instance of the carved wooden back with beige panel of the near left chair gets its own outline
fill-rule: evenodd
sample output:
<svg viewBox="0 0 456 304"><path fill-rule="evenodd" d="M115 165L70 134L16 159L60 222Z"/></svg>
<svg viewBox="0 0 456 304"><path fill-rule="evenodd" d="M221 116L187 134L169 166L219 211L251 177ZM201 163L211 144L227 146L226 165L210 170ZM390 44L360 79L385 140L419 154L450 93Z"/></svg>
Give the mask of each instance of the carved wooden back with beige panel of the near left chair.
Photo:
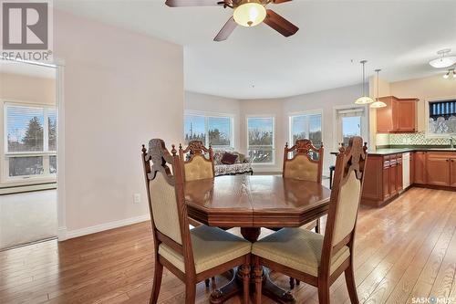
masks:
<svg viewBox="0 0 456 304"><path fill-rule="evenodd" d="M161 139L150 140L149 150L142 145L141 152L155 254L161 243L169 246L183 257L185 272L195 273L180 157Z"/></svg>

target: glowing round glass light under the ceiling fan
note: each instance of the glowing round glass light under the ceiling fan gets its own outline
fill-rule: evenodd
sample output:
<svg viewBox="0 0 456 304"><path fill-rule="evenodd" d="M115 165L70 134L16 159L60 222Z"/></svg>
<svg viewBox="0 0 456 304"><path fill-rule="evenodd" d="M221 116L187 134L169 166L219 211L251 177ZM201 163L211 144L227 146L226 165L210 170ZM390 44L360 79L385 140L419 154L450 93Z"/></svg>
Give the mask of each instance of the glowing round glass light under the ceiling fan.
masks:
<svg viewBox="0 0 456 304"><path fill-rule="evenodd" d="M263 22L266 8L259 0L244 0L234 8L233 18L239 26L252 27Z"/></svg>

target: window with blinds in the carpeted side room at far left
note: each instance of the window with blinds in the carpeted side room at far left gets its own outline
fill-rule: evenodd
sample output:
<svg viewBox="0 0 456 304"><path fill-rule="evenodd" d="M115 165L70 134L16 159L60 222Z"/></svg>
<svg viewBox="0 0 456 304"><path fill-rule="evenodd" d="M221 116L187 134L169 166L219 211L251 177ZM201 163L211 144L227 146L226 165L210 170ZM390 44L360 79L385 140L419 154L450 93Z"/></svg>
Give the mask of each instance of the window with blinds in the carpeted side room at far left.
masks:
<svg viewBox="0 0 456 304"><path fill-rule="evenodd" d="M7 176L57 173L57 111L55 108L5 104Z"/></svg>

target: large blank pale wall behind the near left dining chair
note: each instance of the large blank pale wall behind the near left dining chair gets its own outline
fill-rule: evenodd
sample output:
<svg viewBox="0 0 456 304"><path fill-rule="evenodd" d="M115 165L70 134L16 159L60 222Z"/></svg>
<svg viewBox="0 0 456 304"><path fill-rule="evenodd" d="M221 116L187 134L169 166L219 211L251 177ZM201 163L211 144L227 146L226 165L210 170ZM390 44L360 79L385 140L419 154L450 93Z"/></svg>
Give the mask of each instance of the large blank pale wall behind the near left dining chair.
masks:
<svg viewBox="0 0 456 304"><path fill-rule="evenodd" d="M67 13L54 18L55 57L65 62L59 225L75 236L147 216L140 144L160 137L171 149L183 138L183 54L181 46Z"/></svg>

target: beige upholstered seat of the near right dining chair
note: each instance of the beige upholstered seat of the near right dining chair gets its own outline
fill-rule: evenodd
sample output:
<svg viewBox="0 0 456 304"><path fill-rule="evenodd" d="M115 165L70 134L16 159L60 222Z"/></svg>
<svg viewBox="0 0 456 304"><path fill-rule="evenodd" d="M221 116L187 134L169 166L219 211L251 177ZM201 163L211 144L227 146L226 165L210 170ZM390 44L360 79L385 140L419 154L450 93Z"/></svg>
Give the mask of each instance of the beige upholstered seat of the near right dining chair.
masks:
<svg viewBox="0 0 456 304"><path fill-rule="evenodd" d="M305 229L284 228L254 243L252 253L286 267L317 276L322 247L322 235ZM343 246L332 258L331 273L349 256L348 247Z"/></svg>

